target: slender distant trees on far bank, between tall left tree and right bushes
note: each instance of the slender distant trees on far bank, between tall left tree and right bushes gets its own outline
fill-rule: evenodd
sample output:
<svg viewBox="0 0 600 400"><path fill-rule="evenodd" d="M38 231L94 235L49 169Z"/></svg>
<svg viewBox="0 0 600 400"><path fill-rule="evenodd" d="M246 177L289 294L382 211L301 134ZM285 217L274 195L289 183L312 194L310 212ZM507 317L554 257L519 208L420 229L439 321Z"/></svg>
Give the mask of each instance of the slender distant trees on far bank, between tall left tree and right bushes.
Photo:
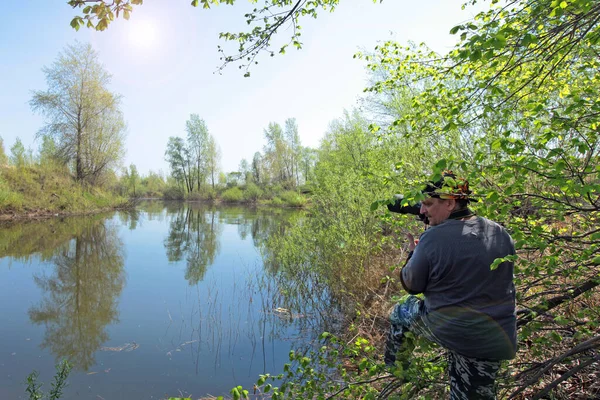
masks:
<svg viewBox="0 0 600 400"><path fill-rule="evenodd" d="M304 204L301 192L310 190L316 150L301 145L294 118L285 121L285 129L270 123L263 152L256 152L251 162L242 159L237 171L221 171L221 150L197 114L186 121L186 133L167 143L173 184L167 185L165 198Z"/></svg>

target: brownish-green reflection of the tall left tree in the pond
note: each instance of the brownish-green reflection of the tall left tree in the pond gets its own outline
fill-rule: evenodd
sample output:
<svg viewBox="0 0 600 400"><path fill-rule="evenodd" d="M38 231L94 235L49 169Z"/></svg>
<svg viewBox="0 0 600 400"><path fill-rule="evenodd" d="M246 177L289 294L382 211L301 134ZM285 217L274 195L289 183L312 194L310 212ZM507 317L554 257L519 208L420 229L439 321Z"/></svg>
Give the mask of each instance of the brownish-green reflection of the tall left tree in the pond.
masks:
<svg viewBox="0 0 600 400"><path fill-rule="evenodd" d="M79 223L77 236L50 258L53 273L34 276L44 295L28 313L34 324L45 326L41 348L87 371L95 363L94 353L109 339L107 325L118 321L125 274L116 227L102 221Z"/></svg>

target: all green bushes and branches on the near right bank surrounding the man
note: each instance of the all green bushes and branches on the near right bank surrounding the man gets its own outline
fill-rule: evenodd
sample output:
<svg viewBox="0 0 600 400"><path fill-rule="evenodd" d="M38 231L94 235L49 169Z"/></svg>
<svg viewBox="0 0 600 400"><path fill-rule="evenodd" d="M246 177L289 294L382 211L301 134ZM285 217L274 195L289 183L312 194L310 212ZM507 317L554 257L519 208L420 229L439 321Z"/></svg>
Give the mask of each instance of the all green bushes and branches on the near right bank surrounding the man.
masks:
<svg viewBox="0 0 600 400"><path fill-rule="evenodd" d="M345 310L345 334L292 355L273 398L447 397L443 349L416 340L407 362L385 370L380 347L402 293L402 233L423 229L384 205L393 193L419 200L422 182L447 168L471 182L476 212L516 242L519 353L499 397L600 393L599 9L512 7L454 28L460 43L443 56L395 42L358 55L372 71L367 112L344 116L324 140L312 218L269 243L281 276L304 282L296 294L334 293L317 298Z"/></svg>

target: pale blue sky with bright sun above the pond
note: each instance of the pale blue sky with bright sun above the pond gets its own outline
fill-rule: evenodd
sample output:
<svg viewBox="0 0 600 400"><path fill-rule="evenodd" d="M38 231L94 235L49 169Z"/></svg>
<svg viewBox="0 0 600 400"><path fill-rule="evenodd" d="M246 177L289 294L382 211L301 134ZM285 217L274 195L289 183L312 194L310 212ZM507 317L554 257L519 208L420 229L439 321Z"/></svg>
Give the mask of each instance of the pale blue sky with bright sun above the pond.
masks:
<svg viewBox="0 0 600 400"><path fill-rule="evenodd" d="M168 172L164 151L169 136L185 136L191 113L203 118L221 148L224 171L237 170L265 144L269 122L282 126L296 118L302 144L318 147L330 121L351 109L366 86L357 51L378 41L425 42L446 52L456 41L449 30L476 10L464 0L343 0L333 13L301 22L304 48L263 56L244 78L236 66L215 73L221 31L245 26L252 5L210 10L189 0L146 0L129 21L117 20L104 32L69 25L75 11L66 0L11 1L0 24L0 137L9 152L17 137L37 149L41 116L29 107L33 90L45 90L42 67L75 40L90 42L112 74L110 89L123 96L127 155L144 174ZM282 31L281 39L287 38ZM232 47L233 48L233 47Z"/></svg>

